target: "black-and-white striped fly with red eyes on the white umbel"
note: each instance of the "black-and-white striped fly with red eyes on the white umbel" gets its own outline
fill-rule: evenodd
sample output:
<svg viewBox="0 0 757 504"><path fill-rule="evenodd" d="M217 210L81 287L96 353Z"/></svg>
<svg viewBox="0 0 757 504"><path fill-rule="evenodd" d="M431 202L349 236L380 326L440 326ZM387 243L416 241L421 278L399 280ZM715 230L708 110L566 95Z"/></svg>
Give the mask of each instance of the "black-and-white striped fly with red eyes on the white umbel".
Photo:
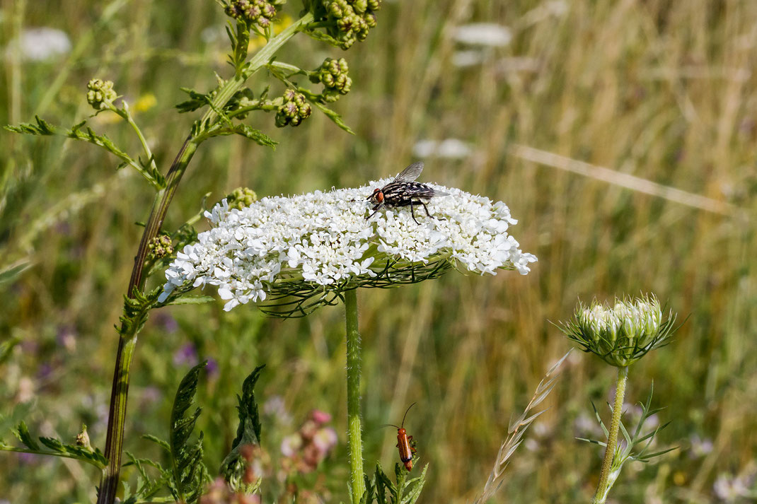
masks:
<svg viewBox="0 0 757 504"><path fill-rule="evenodd" d="M438 191L430 185L415 182L422 171L423 163L413 163L402 170L399 175L394 177L394 180L384 187L380 189L375 188L373 194L366 198L374 205L371 209L373 210L373 213L367 216L366 220L375 216L378 210L381 210L383 207L397 208L409 206L410 215L413 216L413 220L416 221L416 224L420 225L420 222L416 219L416 205L422 206L426 215L431 217L431 213L428 213L428 207L426 207L428 200L435 196L449 196L450 194L444 191ZM435 218L444 220L440 217Z"/></svg>

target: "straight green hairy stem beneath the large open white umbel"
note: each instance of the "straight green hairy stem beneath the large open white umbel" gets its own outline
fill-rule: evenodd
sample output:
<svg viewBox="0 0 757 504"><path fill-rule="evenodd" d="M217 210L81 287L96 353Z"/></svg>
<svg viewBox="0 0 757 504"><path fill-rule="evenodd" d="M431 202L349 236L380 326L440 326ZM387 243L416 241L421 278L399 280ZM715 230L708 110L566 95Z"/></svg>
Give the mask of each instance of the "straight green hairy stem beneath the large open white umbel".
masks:
<svg viewBox="0 0 757 504"><path fill-rule="evenodd" d="M352 502L359 504L366 484L363 481L363 439L360 428L360 333L357 331L357 289L344 292L347 320L347 443L350 451Z"/></svg>

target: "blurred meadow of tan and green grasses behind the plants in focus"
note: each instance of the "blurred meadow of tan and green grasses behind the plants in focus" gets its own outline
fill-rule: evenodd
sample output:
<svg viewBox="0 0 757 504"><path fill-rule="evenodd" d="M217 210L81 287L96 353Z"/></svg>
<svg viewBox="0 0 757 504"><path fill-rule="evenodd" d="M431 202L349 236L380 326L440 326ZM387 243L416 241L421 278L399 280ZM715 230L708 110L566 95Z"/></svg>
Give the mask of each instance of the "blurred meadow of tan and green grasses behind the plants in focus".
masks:
<svg viewBox="0 0 757 504"><path fill-rule="evenodd" d="M296 16L299 3L289 4ZM204 91L212 70L228 74L224 23L210 1L2 2L0 122L76 123L90 114L86 82L110 79L166 170L195 119L173 110L185 99L179 86ZM497 26L472 37L460 29L470 23ZM58 51L40 57L25 45L43 44L40 33ZM240 185L261 197L350 187L424 160L421 181L505 201L519 219L512 235L539 258L526 276L451 273L360 291L366 469L394 464L396 432L379 427L417 401L406 427L429 464L420 502L472 502L511 415L570 347L550 321L568 319L579 298L651 291L689 318L670 346L631 368L628 415L654 381L653 406L666 406L659 422L672 422L657 446L678 450L628 465L611 499L753 502L757 2L385 2L378 26L347 53L297 36L279 61L313 69L329 56L350 64L352 92L335 109L356 135L317 113L290 129L254 115L276 151L236 137L207 142L166 229L208 192L212 204ZM266 82L261 72L251 87ZM113 117L91 124L136 152ZM81 142L0 133L0 266L28 264L0 285L0 344L12 347L0 362L5 441L30 411L33 432L72 440L86 423L104 445L113 325L136 222L151 204L145 182L117 164ZM207 358L199 426L217 468L235 435L235 394L265 363L263 446L275 461L311 409L333 415L338 445L311 483L327 502L345 501L344 309L282 321L222 307L151 316L132 368L126 450L158 456L141 435L167 436L179 380ZM614 378L572 354L493 502L590 501L602 453L575 437L601 437L591 401L606 412ZM90 502L97 481L77 462L0 453L3 504Z"/></svg>

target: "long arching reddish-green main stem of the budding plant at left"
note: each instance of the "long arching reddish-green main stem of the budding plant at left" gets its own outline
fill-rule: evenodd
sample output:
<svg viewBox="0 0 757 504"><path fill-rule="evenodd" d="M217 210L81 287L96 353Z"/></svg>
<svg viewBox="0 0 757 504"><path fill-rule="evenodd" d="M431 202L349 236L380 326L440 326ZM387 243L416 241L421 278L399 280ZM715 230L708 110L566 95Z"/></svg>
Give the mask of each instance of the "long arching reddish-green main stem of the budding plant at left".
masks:
<svg viewBox="0 0 757 504"><path fill-rule="evenodd" d="M216 98L213 99L213 104L211 104L210 110L208 110L201 119L201 125L203 128L210 126L215 120L217 120L217 110L223 108L226 102L229 101L229 98L239 90L246 79L265 66L270 58L273 57L273 54L275 54L276 51L288 41L288 39L291 39L295 33L302 30L303 26L312 20L313 14L305 14L299 20L292 23L291 26L288 26L287 29L282 33L279 33L278 36L270 39L268 44L261 48L248 64L245 64L243 70L237 72L232 79L229 79L229 81L227 81L219 90ZM147 259L148 245L150 244L150 241L157 236L158 232L160 232L160 228L163 226L164 219L168 212L168 207L173 199L173 194L176 193L176 188L178 187L179 182L181 182L186 167L188 166L189 161L192 160L195 151L197 151L200 142L195 142L195 140L196 138L192 138L192 136L189 136L185 140L179 154L176 155L176 159L173 160L173 164L168 170L166 175L166 187L160 189L160 191L157 191L157 194L155 194L150 217L145 226L144 232L142 232L142 239L139 242L139 250L134 258L132 275L129 279L129 288L126 291L129 297L134 296L135 289L142 290L145 288L143 270L145 260ZM100 481L100 491L97 500L98 504L113 504L118 491L121 454L123 452L124 425L126 422L126 398L129 394L129 371L132 366L132 358L136 348L138 333L136 329L132 332L126 332L125 326L122 326L121 329L116 354L113 387L111 388L111 406L107 419L105 456L108 459L108 465L107 468L104 469Z"/></svg>

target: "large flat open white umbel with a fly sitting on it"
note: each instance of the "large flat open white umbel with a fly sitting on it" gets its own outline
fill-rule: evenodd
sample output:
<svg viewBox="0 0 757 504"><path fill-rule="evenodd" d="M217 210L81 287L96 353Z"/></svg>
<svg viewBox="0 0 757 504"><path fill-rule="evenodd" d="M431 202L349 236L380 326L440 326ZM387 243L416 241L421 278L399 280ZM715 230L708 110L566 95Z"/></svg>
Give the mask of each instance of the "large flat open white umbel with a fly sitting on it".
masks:
<svg viewBox="0 0 757 504"><path fill-rule="evenodd" d="M177 288L217 285L228 300L224 310L231 310L293 291L338 291L378 279L382 286L417 282L433 275L416 271L440 262L481 274L506 268L525 275L537 260L507 234L517 221L505 204L456 188L429 184L449 195L431 198L431 218L416 206L419 224L410 207L385 208L366 220L366 197L388 182L263 198L241 210L221 201L205 213L213 227L170 264L160 302Z"/></svg>

